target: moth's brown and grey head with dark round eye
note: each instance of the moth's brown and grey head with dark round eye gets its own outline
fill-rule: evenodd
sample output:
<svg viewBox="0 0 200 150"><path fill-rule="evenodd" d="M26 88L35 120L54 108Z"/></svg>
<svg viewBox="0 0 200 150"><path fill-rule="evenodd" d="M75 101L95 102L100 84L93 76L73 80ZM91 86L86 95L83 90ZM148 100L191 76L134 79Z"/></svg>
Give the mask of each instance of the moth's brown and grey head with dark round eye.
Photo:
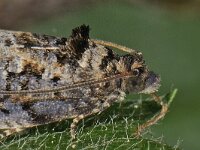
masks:
<svg viewBox="0 0 200 150"><path fill-rule="evenodd" d="M149 71L142 53L123 56L126 71L130 74L124 79L122 87L127 93L153 93L160 87L160 77Z"/></svg>

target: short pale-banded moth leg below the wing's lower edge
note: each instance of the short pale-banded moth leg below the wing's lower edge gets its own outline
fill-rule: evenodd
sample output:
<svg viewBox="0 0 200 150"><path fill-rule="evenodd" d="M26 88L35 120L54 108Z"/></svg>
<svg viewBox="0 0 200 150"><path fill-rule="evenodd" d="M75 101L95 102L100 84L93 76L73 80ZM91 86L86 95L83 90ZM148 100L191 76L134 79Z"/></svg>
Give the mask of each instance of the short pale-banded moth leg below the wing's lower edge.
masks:
<svg viewBox="0 0 200 150"><path fill-rule="evenodd" d="M77 128L77 124L80 120L82 120L85 116L84 115L79 115L76 118L73 119L73 122L70 125L70 134L72 139L76 139L76 128Z"/></svg>

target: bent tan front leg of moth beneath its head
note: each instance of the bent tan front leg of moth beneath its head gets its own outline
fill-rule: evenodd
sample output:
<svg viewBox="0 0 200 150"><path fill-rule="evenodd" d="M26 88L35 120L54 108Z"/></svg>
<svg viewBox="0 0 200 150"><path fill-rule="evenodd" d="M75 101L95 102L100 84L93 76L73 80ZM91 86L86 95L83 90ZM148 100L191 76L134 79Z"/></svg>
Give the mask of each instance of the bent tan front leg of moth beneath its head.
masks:
<svg viewBox="0 0 200 150"><path fill-rule="evenodd" d="M147 127L156 124L160 119L162 119L166 115L166 113L168 111L168 104L164 103L155 93L153 93L151 95L153 96L154 100L159 105L161 105L161 110L157 115L153 116L147 122L138 126L137 131L134 134L136 137L139 137L141 135L142 131L144 131Z"/></svg>

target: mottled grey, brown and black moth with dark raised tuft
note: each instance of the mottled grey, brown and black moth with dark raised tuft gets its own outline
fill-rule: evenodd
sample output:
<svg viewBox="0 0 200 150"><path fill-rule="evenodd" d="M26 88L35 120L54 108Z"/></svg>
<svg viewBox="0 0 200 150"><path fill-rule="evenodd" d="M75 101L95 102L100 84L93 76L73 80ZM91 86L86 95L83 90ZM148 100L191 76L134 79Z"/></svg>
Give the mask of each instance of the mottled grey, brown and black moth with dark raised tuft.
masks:
<svg viewBox="0 0 200 150"><path fill-rule="evenodd" d="M128 52L123 56L111 48ZM89 26L69 38L0 30L0 130L4 136L26 128L73 119L75 138L81 119L101 113L128 93L152 94L159 114L138 127L137 134L167 112L154 93L160 77L146 66L142 53L89 38Z"/></svg>

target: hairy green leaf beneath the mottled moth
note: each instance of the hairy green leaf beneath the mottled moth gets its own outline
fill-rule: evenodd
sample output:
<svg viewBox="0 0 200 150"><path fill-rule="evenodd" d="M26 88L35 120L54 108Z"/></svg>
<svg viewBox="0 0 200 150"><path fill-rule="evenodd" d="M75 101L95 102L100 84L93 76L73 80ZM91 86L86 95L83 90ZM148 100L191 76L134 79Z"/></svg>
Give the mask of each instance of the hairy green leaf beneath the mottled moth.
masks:
<svg viewBox="0 0 200 150"><path fill-rule="evenodd" d="M172 102L177 89L164 98ZM127 100L115 103L100 115L91 116L80 122L77 140L72 141L69 133L71 121L63 121L39 126L2 141L0 149L136 149L136 150L175 150L172 146L154 138L134 138L138 124L146 122L160 110L160 106L150 100Z"/></svg>

